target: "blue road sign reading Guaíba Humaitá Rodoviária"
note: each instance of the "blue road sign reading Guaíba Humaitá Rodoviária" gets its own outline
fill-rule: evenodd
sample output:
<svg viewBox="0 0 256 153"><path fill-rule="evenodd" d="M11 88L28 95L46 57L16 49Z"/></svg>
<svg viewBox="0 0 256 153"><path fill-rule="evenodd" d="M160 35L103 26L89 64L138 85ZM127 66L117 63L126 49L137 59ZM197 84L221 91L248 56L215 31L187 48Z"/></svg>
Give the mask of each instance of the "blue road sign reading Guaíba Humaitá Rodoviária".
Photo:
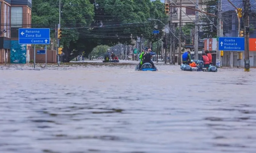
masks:
<svg viewBox="0 0 256 153"><path fill-rule="evenodd" d="M244 51L244 37L219 37L219 50Z"/></svg>

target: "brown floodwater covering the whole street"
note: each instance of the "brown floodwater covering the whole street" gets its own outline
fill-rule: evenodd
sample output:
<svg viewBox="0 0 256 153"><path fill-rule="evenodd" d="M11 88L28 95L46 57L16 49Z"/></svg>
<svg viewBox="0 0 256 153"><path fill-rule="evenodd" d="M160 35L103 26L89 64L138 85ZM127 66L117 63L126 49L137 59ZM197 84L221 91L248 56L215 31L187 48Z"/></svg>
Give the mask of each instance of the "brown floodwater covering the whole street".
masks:
<svg viewBox="0 0 256 153"><path fill-rule="evenodd" d="M121 62L0 65L0 152L255 153L256 69Z"/></svg>

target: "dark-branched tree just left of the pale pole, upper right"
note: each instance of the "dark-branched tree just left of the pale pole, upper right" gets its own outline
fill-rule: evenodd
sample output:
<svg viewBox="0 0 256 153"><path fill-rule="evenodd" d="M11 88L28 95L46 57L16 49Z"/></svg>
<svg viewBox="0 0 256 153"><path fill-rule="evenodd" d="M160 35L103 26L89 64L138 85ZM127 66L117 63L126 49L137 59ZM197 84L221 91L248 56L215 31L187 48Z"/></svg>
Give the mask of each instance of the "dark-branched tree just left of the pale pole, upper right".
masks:
<svg viewBox="0 0 256 153"><path fill-rule="evenodd" d="M206 6L206 8L203 11L217 16L218 0L205 0L203 4ZM212 23L214 23L214 25L218 24L218 19L216 17L210 16L210 15L206 15L206 16L212 21ZM217 38L217 29L212 25L212 23L204 15L200 16L200 20L203 23L203 31L204 31L203 38Z"/></svg>

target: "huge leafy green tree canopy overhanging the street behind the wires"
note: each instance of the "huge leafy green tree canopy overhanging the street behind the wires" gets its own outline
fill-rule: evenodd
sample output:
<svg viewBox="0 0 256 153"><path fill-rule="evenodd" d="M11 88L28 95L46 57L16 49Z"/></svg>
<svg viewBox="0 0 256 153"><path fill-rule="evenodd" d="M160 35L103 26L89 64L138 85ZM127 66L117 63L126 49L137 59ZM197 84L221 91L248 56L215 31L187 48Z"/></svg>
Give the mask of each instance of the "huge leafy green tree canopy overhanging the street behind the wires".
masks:
<svg viewBox="0 0 256 153"><path fill-rule="evenodd" d="M157 40L164 26L147 19L166 18L160 0L62 0L61 12L61 45L67 62L82 52L89 55L98 45L131 44L141 35ZM33 5L33 27L50 27L53 38L58 21L58 1L38 0ZM151 34L156 25L159 38Z"/></svg>

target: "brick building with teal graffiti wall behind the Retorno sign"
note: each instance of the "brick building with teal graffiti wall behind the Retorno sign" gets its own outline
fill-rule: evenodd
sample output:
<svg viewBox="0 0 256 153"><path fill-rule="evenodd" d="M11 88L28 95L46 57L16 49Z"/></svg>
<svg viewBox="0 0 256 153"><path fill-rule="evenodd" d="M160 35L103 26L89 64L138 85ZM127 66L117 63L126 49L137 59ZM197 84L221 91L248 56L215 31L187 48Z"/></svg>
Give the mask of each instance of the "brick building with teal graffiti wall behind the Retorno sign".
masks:
<svg viewBox="0 0 256 153"><path fill-rule="evenodd" d="M31 45L20 45L19 28L31 28L32 0L0 0L0 63L26 63Z"/></svg>

